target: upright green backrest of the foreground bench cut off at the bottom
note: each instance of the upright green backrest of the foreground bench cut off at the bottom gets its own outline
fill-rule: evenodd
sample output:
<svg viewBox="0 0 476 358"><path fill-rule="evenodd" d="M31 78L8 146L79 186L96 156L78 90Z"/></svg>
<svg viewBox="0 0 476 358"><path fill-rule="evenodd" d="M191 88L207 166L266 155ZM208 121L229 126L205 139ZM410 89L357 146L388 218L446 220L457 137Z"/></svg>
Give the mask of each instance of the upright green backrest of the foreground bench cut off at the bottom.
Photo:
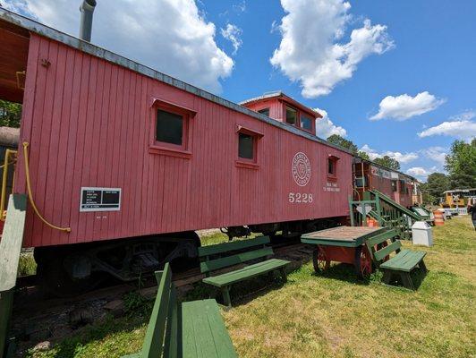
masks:
<svg viewBox="0 0 476 358"><path fill-rule="evenodd" d="M178 352L177 295L168 263L156 271L157 296L140 358L176 357Z"/></svg>

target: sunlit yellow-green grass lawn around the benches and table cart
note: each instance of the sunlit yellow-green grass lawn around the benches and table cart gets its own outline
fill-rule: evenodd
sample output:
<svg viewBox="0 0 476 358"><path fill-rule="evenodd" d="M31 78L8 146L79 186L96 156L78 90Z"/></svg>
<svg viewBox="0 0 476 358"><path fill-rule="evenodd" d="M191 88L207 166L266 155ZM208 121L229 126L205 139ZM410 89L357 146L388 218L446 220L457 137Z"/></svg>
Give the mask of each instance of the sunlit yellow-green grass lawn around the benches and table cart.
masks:
<svg viewBox="0 0 476 358"><path fill-rule="evenodd" d="M305 264L280 288L223 312L241 357L476 357L476 233L469 217L434 228L429 274L417 292L361 282L353 268L313 274ZM219 234L208 240L217 243ZM405 246L411 247L405 243ZM197 288L200 292L200 287ZM115 357L140 350L149 310L81 328L34 357Z"/></svg>

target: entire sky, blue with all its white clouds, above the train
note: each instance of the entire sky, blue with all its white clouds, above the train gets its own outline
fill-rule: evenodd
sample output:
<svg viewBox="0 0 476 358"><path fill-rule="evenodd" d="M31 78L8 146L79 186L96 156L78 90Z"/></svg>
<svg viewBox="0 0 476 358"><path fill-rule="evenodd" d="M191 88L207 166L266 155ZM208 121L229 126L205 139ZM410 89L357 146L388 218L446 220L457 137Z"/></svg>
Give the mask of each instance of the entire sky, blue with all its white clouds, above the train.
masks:
<svg viewBox="0 0 476 358"><path fill-rule="evenodd" d="M79 0L3 3L77 34ZM284 90L327 112L324 132L421 179L442 170L452 141L476 135L475 1L140 4L98 0L92 42L234 102Z"/></svg>

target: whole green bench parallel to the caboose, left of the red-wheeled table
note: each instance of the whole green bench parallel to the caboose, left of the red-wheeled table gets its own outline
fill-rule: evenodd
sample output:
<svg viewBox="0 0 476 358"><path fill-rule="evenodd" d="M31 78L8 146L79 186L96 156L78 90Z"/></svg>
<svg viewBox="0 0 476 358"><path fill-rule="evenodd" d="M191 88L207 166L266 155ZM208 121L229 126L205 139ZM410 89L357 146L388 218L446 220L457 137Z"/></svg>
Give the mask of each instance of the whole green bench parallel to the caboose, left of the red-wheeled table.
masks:
<svg viewBox="0 0 476 358"><path fill-rule="evenodd" d="M207 277L203 279L205 284L218 287L223 294L225 305L231 307L230 288L237 282L250 279L274 271L281 273L283 281L286 281L285 267L290 263L286 260L269 259L273 254L273 249L268 247L268 236L259 236L256 239L235 241L233 243L218 243L199 247L200 270ZM251 249L251 251L244 251ZM241 251L232 254L233 251ZM248 265L244 268L226 272L221 275L210 277L213 271L220 268L228 268L250 260L261 260L258 263Z"/></svg>

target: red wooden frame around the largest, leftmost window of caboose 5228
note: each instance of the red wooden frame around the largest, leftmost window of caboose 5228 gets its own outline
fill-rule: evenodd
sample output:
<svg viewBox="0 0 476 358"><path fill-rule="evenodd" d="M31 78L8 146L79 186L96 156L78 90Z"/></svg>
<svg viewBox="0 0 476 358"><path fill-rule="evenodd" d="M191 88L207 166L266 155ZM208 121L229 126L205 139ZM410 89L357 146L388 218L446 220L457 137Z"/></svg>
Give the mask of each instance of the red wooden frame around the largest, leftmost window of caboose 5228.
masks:
<svg viewBox="0 0 476 358"><path fill-rule="evenodd" d="M191 158L191 119L195 117L197 112L159 98L152 98L150 109L149 153L164 154L179 158ZM157 119L159 110L182 116L181 145L168 143L166 141L157 141Z"/></svg>

